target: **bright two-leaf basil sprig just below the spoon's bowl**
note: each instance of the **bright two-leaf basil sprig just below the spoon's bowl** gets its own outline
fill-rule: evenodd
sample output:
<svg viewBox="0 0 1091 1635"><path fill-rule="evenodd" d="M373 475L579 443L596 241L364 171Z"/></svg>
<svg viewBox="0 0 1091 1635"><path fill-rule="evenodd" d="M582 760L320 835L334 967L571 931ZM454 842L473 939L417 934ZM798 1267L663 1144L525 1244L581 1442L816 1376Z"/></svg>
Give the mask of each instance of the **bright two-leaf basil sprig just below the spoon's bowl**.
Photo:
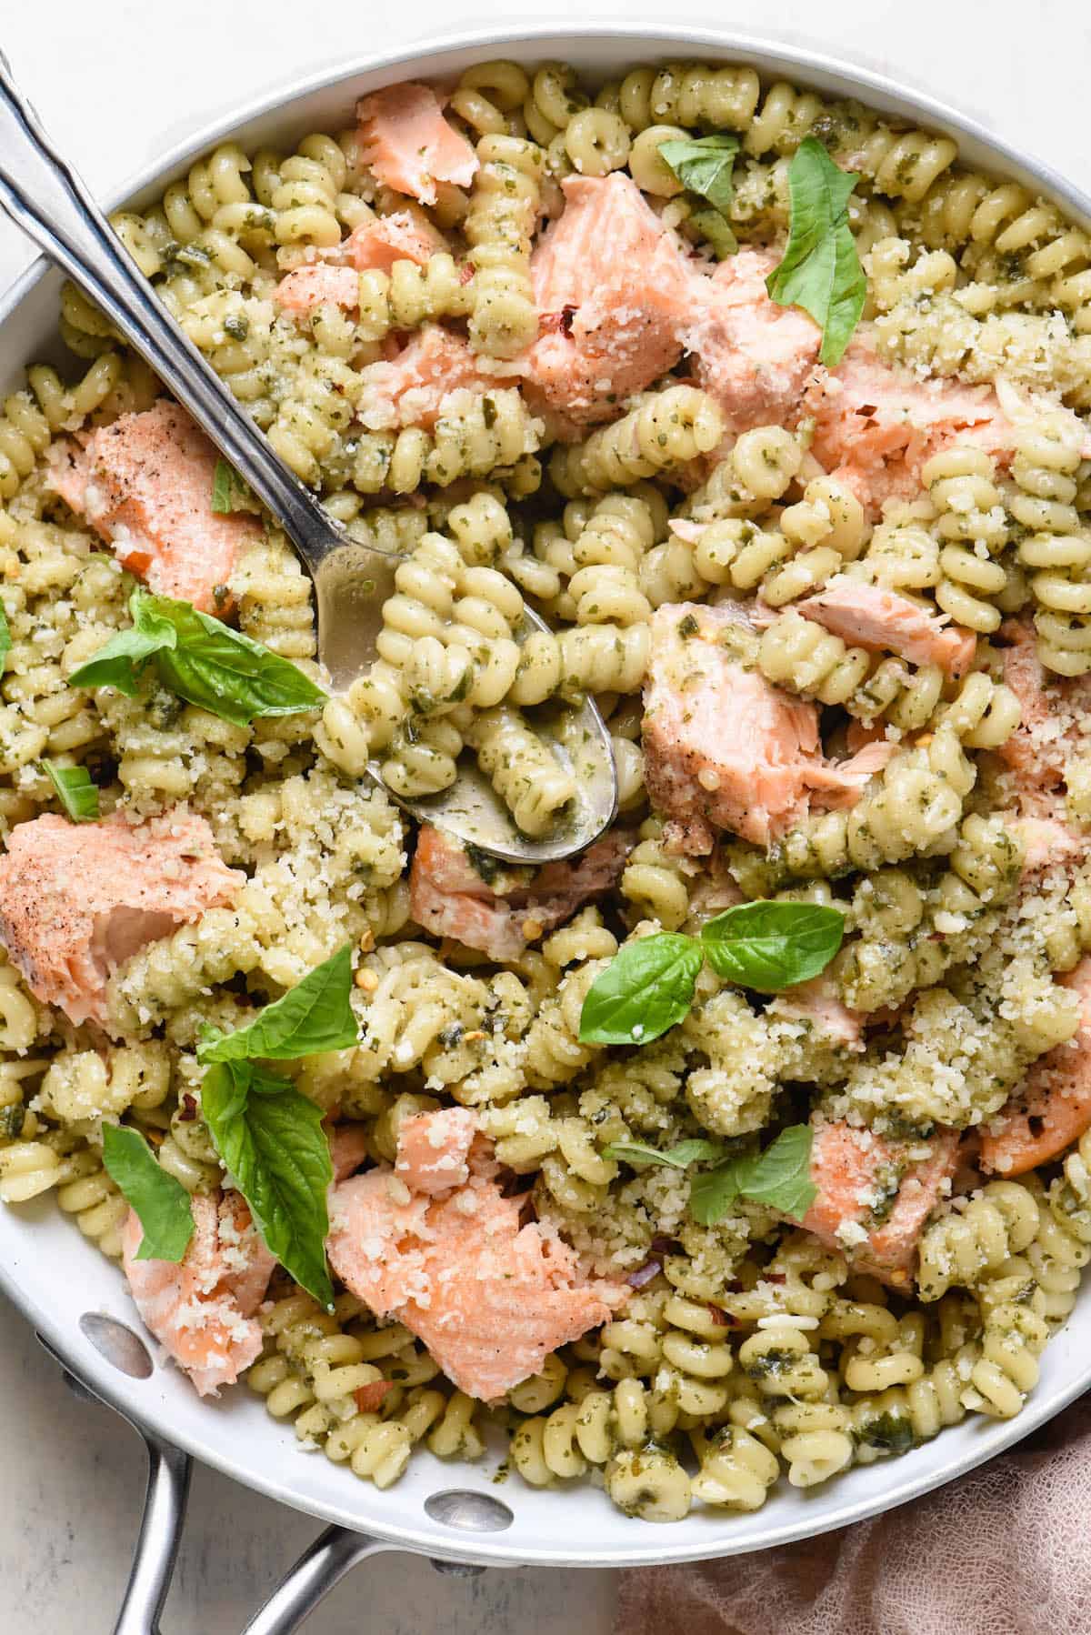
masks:
<svg viewBox="0 0 1091 1635"><path fill-rule="evenodd" d="M626 942L587 991L586 1045L648 1045L680 1022L705 960L720 976L779 992L824 971L841 947L844 914L815 903L741 903L700 937L656 932Z"/></svg>

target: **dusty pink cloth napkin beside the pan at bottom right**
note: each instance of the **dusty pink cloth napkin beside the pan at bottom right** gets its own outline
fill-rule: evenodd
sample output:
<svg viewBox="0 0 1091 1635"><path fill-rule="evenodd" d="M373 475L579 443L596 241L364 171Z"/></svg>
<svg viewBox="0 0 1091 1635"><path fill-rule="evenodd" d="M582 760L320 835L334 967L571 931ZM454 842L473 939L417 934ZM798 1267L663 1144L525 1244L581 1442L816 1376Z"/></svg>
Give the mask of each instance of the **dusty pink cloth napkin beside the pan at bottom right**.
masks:
<svg viewBox="0 0 1091 1635"><path fill-rule="evenodd" d="M1091 1635L1091 1396L875 1521L625 1573L617 1635Z"/></svg>

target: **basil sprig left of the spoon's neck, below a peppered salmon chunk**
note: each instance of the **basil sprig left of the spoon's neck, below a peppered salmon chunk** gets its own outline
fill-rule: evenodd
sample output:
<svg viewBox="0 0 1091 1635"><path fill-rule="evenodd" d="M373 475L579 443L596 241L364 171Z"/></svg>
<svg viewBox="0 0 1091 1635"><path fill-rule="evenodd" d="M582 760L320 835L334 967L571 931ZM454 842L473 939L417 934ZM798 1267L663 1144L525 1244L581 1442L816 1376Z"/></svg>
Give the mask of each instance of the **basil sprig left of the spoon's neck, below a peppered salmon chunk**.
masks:
<svg viewBox="0 0 1091 1635"><path fill-rule="evenodd" d="M131 698L154 662L164 687L236 726L312 710L326 698L288 659L188 602L137 587L129 611L132 628L80 664L69 677L72 687L116 687Z"/></svg>

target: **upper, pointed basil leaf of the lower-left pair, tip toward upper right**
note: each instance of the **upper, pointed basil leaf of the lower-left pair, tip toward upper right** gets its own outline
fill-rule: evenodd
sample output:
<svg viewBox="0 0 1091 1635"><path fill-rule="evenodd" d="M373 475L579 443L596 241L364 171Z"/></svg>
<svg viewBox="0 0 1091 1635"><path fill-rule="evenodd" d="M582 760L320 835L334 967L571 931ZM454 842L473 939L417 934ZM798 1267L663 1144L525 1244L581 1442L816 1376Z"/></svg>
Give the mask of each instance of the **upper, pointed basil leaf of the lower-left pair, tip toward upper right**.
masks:
<svg viewBox="0 0 1091 1635"><path fill-rule="evenodd" d="M196 1046L201 1063L245 1061L247 1058L294 1059L314 1056L321 1050L348 1050L360 1038L352 1010L352 945L345 943L332 958L276 999L234 1033L206 1037Z"/></svg>

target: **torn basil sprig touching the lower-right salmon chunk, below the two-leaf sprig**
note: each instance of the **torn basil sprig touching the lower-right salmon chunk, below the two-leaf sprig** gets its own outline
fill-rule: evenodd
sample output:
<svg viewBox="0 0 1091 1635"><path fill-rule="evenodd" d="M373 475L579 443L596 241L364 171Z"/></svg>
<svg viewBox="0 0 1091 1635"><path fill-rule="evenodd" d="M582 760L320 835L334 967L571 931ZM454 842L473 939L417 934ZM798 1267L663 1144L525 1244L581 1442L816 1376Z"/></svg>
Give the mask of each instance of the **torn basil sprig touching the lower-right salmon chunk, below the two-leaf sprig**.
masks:
<svg viewBox="0 0 1091 1635"><path fill-rule="evenodd" d="M767 1203L780 1215L801 1221L818 1194L811 1180L811 1135L810 1125L788 1125L764 1153L736 1158L725 1158L718 1141L700 1138L662 1151L640 1141L615 1141L604 1148L602 1156L636 1169L646 1164L689 1169L690 1164L715 1162L715 1169L698 1171L690 1179L690 1215L702 1226L715 1226L739 1197Z"/></svg>

